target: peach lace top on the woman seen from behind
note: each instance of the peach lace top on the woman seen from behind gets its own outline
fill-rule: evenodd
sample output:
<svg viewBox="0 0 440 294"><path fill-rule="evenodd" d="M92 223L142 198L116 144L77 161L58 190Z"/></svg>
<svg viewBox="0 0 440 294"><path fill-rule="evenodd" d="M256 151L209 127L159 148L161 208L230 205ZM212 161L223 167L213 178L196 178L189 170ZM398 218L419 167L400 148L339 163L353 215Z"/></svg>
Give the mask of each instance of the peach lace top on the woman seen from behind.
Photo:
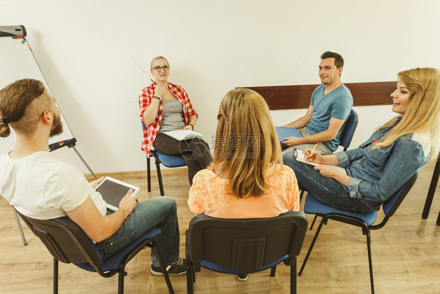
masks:
<svg viewBox="0 0 440 294"><path fill-rule="evenodd" d="M212 170L202 170L193 179L188 205L194 214L217 218L269 218L288 211L299 211L298 183L289 167L278 165L267 172L268 187L261 197L237 198L231 193L229 180Z"/></svg>

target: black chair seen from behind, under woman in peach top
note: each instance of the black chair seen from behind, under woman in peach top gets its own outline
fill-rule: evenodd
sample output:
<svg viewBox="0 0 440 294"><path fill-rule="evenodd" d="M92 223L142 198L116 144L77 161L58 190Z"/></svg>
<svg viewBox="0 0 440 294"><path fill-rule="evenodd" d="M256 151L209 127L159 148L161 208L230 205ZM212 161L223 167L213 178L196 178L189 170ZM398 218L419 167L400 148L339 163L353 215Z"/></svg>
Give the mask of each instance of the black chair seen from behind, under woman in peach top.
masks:
<svg viewBox="0 0 440 294"><path fill-rule="evenodd" d="M291 267L291 293L296 293L296 258L307 230L303 212L273 218L221 219L206 215L192 218L186 230L187 292L194 292L201 266L224 274L247 274L284 261Z"/></svg>

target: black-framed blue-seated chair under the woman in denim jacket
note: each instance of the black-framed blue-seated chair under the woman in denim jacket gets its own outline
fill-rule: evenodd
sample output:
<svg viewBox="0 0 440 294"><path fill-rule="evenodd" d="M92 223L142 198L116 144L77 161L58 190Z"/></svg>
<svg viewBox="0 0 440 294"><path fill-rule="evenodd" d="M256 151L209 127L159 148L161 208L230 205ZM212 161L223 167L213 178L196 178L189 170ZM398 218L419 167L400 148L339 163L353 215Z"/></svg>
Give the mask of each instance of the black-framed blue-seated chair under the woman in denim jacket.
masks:
<svg viewBox="0 0 440 294"><path fill-rule="evenodd" d="M333 208L328 206L320 201L318 201L312 193L307 193L304 201L304 212L306 214L315 214L315 218L310 226L312 229L313 224L318 216L322 217L321 223L319 224L318 229L316 230L315 237L313 238L312 244L310 245L309 251L305 256L304 262L302 263L301 269L299 270L299 276L301 276L302 271L304 270L305 263L307 259L309 259L310 253L312 252L313 245L318 238L318 234L321 230L323 224L327 224L329 219L347 223L354 226L359 226L362 228L362 234L367 237L367 248L368 248L368 263L370 269L370 283L371 283L371 293L375 292L375 287L373 283L373 267L371 261L371 237L370 230L371 229L380 229L382 228L388 221L390 217L392 217L399 208L402 201L405 199L408 192L411 190L411 187L414 185L417 176L419 175L419 171L415 172L411 178L399 188L388 200L386 200L382 204L382 209L384 211L385 217L381 223L373 225L376 222L378 212L372 211L369 213L351 213L347 211L342 211L337 208Z"/></svg>

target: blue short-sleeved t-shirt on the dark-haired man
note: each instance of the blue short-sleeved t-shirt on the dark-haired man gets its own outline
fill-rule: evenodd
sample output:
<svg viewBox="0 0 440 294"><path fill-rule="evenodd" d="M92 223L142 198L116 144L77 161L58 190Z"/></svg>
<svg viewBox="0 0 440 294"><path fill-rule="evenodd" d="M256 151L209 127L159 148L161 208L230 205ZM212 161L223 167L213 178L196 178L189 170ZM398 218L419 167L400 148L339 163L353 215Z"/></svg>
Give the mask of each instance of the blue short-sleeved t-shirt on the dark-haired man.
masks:
<svg viewBox="0 0 440 294"><path fill-rule="evenodd" d="M353 107L353 96L350 90L344 84L324 95L325 85L318 86L313 91L310 105L313 106L313 114L310 122L305 129L312 135L323 132L328 129L330 118L345 119L347 121L350 115L351 107ZM345 122L336 135L335 139L325 141L332 152L338 148Z"/></svg>

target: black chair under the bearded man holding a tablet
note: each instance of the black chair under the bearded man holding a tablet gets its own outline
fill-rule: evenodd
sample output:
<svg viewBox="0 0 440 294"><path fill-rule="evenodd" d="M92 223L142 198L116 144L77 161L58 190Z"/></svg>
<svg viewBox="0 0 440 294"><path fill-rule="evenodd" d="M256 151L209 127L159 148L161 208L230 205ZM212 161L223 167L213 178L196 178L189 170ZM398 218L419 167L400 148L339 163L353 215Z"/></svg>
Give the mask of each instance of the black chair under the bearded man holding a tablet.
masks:
<svg viewBox="0 0 440 294"><path fill-rule="evenodd" d="M40 238L41 242L45 244L54 257L54 294L58 293L58 261L74 263L82 269L98 272L104 278L112 277L118 273L118 294L123 294L124 276L127 275L125 265L145 247L155 250L162 272L165 272L164 278L168 290L170 293L174 293L162 256L154 239L161 233L159 228L154 227L150 229L139 239L119 251L119 253L102 260L92 240L68 217L37 220L24 216L18 211L17 213L35 236Z"/></svg>

